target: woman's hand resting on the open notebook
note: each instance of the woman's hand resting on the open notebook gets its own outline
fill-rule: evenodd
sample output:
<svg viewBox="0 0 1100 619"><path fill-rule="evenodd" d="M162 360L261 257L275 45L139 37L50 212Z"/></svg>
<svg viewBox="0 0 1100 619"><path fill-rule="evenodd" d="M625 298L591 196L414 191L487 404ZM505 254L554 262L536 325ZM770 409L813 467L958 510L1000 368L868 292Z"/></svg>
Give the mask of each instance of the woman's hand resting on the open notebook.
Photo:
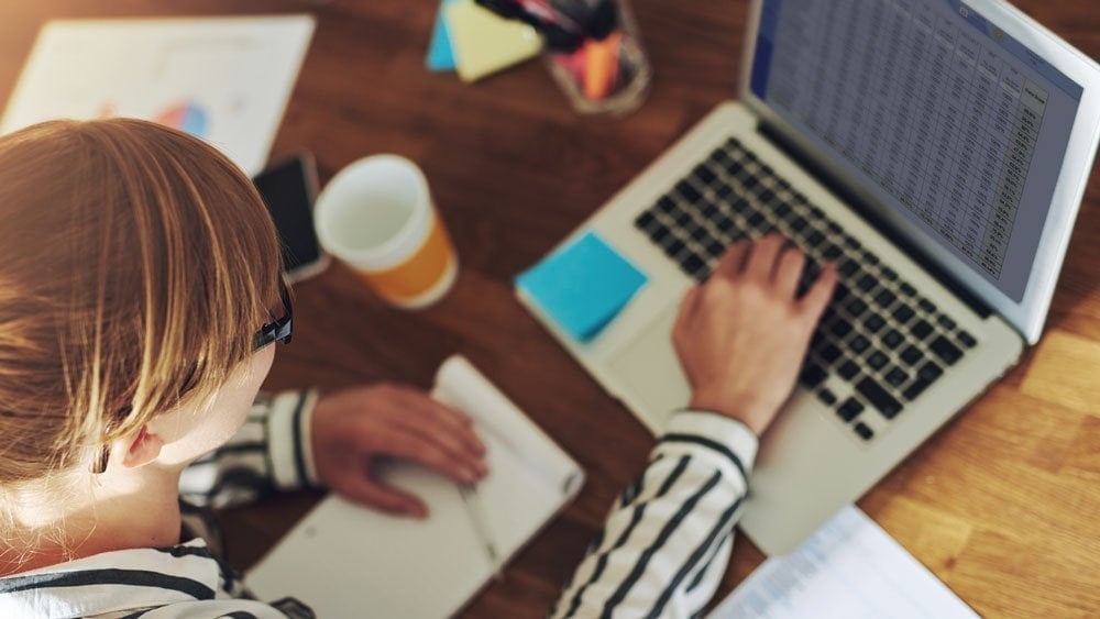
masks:
<svg viewBox="0 0 1100 619"><path fill-rule="evenodd" d="M460 484L487 472L473 420L400 385L322 396L314 409L312 447L317 474L329 488L384 511L420 518L428 515L424 501L374 478L380 456L424 464Z"/></svg>

